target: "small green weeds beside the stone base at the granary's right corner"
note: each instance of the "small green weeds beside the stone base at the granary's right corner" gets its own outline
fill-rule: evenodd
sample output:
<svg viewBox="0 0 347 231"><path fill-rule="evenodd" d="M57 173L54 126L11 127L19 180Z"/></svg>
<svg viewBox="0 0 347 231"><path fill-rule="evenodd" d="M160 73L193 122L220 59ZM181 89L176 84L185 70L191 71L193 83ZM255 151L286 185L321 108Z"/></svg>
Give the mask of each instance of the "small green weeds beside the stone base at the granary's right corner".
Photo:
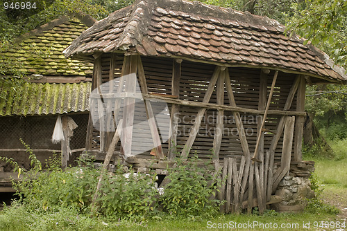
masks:
<svg viewBox="0 0 347 231"><path fill-rule="evenodd" d="M305 207L305 211L310 213L325 213L325 214L338 214L339 209L335 206L323 203L321 200L321 193L323 189L319 187L319 181L316 174L310 176L311 190L314 191L314 198L310 199Z"/></svg>

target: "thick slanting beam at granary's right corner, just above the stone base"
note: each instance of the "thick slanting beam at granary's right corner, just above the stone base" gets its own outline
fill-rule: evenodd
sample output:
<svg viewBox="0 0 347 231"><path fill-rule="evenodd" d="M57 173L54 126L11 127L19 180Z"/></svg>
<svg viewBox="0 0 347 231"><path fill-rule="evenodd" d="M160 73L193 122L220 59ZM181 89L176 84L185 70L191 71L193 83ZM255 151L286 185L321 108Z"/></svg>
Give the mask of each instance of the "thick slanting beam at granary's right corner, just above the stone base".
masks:
<svg viewBox="0 0 347 231"><path fill-rule="evenodd" d="M276 191L278 183L282 180L290 169L291 148L293 147L295 117L288 117L285 122L285 135L283 137L283 148L280 168L273 176L272 192Z"/></svg>

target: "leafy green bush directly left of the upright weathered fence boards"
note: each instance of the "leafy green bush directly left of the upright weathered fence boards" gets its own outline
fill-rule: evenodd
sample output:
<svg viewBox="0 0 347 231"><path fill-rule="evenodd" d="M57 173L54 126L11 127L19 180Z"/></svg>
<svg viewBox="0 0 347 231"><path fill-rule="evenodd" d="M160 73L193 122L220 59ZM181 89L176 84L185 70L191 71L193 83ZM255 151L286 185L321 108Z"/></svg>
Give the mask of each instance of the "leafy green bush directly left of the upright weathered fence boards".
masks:
<svg viewBox="0 0 347 231"><path fill-rule="evenodd" d="M176 159L176 166L169 169L169 183L160 199L164 212L174 215L198 216L217 213L219 201L215 196L220 182L206 167L199 167L197 156L187 163Z"/></svg>

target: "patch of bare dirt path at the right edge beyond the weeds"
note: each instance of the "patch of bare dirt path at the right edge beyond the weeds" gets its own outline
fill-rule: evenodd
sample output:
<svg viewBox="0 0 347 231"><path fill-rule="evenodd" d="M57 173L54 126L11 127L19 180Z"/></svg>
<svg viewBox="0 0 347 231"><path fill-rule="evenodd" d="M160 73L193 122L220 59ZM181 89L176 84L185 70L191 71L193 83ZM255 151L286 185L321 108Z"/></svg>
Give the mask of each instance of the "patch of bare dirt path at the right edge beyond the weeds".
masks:
<svg viewBox="0 0 347 231"><path fill-rule="evenodd" d="M347 188L323 185L322 199L325 203L335 205L341 211L338 219L347 222Z"/></svg>

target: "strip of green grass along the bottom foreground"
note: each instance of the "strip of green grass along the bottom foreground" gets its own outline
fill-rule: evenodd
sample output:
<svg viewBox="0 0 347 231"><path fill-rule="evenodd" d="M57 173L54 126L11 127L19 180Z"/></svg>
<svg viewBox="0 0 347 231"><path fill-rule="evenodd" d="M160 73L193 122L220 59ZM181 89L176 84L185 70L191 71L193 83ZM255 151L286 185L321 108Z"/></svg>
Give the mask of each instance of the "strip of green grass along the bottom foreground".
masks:
<svg viewBox="0 0 347 231"><path fill-rule="evenodd" d="M210 223L208 223L210 221ZM160 219L157 221L103 221L99 218L90 218L85 214L78 214L74 210L61 208L56 212L42 213L28 212L21 206L13 206L8 210L0 212L0 230L211 230L213 224L235 225L235 223L275 223L280 226L282 223L287 225L298 225L296 228L260 228L254 226L253 230L316 230L313 227L314 221L335 221L335 216L329 214L277 214L276 212L267 212L264 216L252 214L248 216L242 214L220 215L211 219ZM310 229L303 228L303 223L311 223ZM242 228L241 230L250 230L251 228ZM225 227L225 230L230 230Z"/></svg>

